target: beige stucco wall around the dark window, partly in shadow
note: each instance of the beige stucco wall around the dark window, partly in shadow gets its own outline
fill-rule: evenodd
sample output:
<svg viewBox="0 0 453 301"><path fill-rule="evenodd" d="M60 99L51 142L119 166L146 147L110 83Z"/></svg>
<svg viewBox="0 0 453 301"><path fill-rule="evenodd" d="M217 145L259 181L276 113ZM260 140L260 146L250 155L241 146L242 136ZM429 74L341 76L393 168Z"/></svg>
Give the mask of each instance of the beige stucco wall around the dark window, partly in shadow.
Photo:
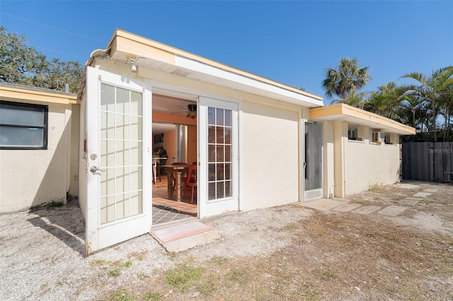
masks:
<svg viewBox="0 0 453 301"><path fill-rule="evenodd" d="M9 100L11 101L11 100ZM25 103L38 103L23 101ZM20 211L51 201L66 201L77 169L76 156L71 155L71 126L79 123L73 106L49 106L47 150L0 151L0 212ZM74 120L73 120L74 118ZM76 148L74 148L76 149Z"/></svg>

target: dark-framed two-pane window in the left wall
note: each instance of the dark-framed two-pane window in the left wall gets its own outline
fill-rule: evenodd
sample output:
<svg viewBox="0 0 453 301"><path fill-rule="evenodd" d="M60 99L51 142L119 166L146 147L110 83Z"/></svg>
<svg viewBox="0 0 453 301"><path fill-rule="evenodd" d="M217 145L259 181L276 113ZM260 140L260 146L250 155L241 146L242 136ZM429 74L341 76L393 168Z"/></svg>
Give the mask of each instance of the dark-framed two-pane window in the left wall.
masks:
<svg viewBox="0 0 453 301"><path fill-rule="evenodd" d="M0 101L0 149L47 149L47 105Z"/></svg>

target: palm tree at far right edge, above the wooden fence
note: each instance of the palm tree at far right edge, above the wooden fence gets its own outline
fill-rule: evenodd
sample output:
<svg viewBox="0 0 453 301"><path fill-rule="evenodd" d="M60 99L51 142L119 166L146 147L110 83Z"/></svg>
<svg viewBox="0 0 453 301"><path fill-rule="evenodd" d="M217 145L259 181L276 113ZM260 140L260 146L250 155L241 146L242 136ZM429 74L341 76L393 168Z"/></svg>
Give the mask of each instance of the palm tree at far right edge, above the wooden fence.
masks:
<svg viewBox="0 0 453 301"><path fill-rule="evenodd" d="M413 78L420 83L420 85L413 88L413 91L420 100L427 102L430 107L432 118L430 122L431 131L433 139L436 142L437 116L442 112L447 120L450 117L449 107L451 107L452 102L453 66L432 71L430 76L426 76L423 73L411 72L401 76L401 78ZM445 130L447 130L447 120L444 123Z"/></svg>

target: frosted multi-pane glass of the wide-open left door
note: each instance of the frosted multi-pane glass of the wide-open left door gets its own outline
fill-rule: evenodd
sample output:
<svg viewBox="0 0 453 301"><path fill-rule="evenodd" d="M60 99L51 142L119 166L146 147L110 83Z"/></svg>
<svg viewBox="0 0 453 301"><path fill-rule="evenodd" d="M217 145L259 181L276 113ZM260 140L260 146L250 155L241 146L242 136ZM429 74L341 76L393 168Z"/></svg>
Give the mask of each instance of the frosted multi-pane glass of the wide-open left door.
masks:
<svg viewBox="0 0 453 301"><path fill-rule="evenodd" d="M101 84L101 223L142 213L142 93Z"/></svg>

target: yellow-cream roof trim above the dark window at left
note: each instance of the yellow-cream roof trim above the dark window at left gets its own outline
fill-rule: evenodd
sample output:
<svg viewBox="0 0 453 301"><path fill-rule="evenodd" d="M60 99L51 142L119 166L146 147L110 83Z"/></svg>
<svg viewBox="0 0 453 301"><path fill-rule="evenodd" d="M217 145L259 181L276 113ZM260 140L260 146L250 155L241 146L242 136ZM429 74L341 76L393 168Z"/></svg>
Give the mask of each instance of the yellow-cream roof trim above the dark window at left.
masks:
<svg viewBox="0 0 453 301"><path fill-rule="evenodd" d="M62 105L80 104L80 102L77 101L76 95L66 95L62 93L52 93L27 88L9 87L5 85L0 85L0 98L1 100L25 100L33 102L59 103Z"/></svg>

